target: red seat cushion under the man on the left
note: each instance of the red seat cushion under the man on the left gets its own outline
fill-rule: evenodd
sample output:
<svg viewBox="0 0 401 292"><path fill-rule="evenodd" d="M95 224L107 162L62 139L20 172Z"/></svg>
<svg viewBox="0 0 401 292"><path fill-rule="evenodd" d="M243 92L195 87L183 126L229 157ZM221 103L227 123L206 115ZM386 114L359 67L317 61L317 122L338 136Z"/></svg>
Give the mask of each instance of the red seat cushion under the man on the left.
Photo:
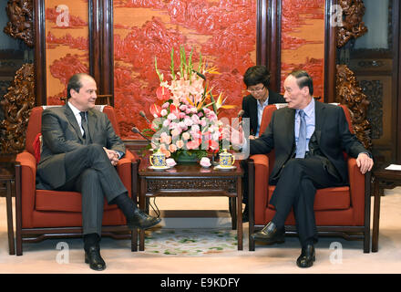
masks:
<svg viewBox="0 0 401 292"><path fill-rule="evenodd" d="M105 201L105 210L117 209L116 204L109 205ZM36 211L81 212L81 194L77 192L57 192L36 190Z"/></svg>

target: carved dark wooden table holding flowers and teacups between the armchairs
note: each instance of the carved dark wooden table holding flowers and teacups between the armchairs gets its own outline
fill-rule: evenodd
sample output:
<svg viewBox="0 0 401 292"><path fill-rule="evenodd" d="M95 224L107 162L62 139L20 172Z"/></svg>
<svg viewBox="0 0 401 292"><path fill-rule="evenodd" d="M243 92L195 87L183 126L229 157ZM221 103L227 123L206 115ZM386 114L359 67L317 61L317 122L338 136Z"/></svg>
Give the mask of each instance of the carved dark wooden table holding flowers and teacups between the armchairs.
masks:
<svg viewBox="0 0 401 292"><path fill-rule="evenodd" d="M149 160L139 165L139 208L145 210L149 197L227 196L232 199L232 229L237 229L238 250L242 250L242 175L240 163L232 170L202 168L196 164L176 165L169 170L149 169ZM145 232L139 230L139 250L145 249Z"/></svg>

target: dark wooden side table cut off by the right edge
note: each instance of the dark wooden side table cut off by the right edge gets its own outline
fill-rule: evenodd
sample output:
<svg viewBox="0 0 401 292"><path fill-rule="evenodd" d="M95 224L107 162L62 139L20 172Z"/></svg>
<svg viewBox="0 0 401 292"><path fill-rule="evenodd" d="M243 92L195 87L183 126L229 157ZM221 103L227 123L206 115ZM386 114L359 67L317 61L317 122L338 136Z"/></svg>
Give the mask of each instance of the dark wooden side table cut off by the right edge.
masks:
<svg viewBox="0 0 401 292"><path fill-rule="evenodd" d="M372 252L378 250L379 245L379 221L380 221L380 196L384 189L394 189L396 186L401 186L401 172L387 171L380 168L373 172L375 177L374 196L375 203L373 209L373 234L372 234Z"/></svg>

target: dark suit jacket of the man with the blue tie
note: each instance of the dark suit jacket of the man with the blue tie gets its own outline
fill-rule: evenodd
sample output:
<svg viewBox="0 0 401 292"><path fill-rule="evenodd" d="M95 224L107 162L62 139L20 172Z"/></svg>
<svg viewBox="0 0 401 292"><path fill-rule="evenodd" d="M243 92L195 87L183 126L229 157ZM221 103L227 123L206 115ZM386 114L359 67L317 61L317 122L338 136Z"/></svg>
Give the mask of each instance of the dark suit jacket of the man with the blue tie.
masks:
<svg viewBox="0 0 401 292"><path fill-rule="evenodd" d="M351 157L368 151L348 129L344 110L341 107L315 101L315 129L310 151L315 151L324 160L324 168L343 183L348 183L347 165L343 151ZM283 108L275 110L272 120L259 139L250 141L250 154L268 153L274 149L275 162L270 183L277 182L280 172L295 151L294 137L295 110Z"/></svg>

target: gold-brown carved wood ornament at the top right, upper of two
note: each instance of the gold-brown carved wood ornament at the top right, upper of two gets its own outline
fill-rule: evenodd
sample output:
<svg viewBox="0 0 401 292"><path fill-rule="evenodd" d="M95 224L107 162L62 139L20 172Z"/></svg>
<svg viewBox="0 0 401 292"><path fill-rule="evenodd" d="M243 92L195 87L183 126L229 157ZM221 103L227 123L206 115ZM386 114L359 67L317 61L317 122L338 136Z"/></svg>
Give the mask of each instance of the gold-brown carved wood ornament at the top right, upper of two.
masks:
<svg viewBox="0 0 401 292"><path fill-rule="evenodd" d="M336 29L337 47L343 47L352 37L365 35L367 27L362 21L365 15L365 5L362 0L340 0L343 8L343 26Z"/></svg>

